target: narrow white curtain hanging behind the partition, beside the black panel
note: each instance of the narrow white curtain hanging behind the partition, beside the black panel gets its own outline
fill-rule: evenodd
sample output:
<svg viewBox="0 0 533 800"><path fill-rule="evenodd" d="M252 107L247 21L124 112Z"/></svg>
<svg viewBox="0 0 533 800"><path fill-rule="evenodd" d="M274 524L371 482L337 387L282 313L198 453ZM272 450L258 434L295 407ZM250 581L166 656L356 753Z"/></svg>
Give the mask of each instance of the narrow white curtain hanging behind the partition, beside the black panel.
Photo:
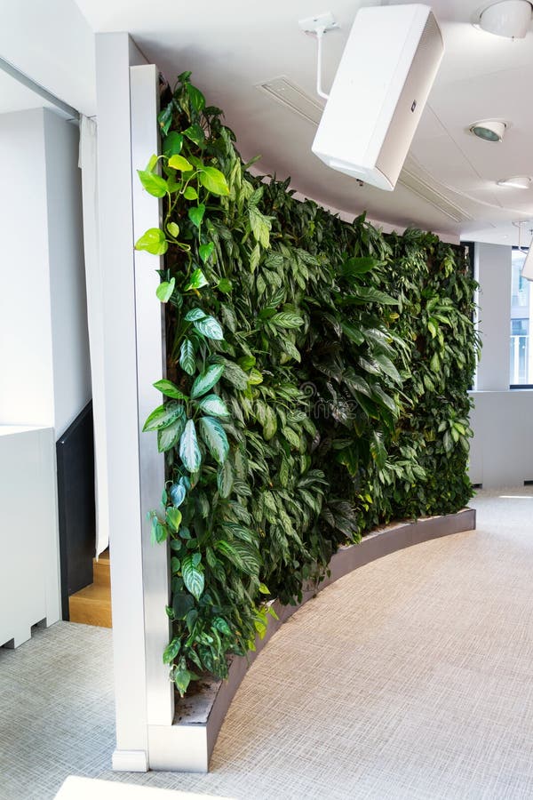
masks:
<svg viewBox="0 0 533 800"><path fill-rule="evenodd" d="M107 437L104 400L104 318L99 263L97 126L80 116L80 157L84 204L84 254L87 316L91 353L92 413L94 419L94 476L96 497L96 556L109 544L107 497Z"/></svg>

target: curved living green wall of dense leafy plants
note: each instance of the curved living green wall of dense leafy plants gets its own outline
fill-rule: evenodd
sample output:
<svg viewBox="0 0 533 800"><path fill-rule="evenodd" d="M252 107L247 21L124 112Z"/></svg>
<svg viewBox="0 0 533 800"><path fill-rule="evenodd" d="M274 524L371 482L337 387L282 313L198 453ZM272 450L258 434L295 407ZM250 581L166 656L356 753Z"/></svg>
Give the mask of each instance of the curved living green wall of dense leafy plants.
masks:
<svg viewBox="0 0 533 800"><path fill-rule="evenodd" d="M170 540L163 658L183 694L227 676L266 601L295 603L340 544L465 505L477 341L459 248L252 177L187 73L159 121L139 179L163 227L136 246L165 257L168 371L145 429L166 457L152 530Z"/></svg>

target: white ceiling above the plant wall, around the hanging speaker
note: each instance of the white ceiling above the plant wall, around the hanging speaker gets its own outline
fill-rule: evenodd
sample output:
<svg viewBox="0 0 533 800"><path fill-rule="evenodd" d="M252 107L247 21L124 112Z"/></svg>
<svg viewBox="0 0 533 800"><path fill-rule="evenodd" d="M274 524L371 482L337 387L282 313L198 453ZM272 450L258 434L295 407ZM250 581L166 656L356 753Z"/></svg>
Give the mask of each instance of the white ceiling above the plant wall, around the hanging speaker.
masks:
<svg viewBox="0 0 533 800"><path fill-rule="evenodd" d="M298 20L330 11L340 24L324 39L323 84L328 87L357 10L362 5L401 2L76 0L77 8L72 0L53 0L52 4L70 3L94 32L129 31L169 80L191 69L208 101L225 109L226 122L235 130L243 156L261 154L263 172L275 172L279 178L290 175L293 187L302 194L348 214L367 209L371 218L398 226L415 224L450 237L511 243L517 232L512 221L533 218L533 188L497 187L496 180L519 173L533 175L529 145L533 104L528 92L533 32L514 42L491 36L471 24L480 10L479 0L428 0L441 23L446 52L406 163L410 173L406 182L411 188L398 184L394 192L360 187L354 179L328 169L311 152L314 124L256 88L276 76L287 76L315 97L316 44L299 30ZM20 3L28 4L28 0ZM34 4L41 5L35 0ZM5 5L18 4L5 0ZM61 16L55 16L58 19ZM74 18L81 36L80 20ZM5 32L4 24L3 28ZM0 55L4 55L2 36ZM0 86L0 95L1 91ZM88 96L86 75L84 91ZM63 99L76 106L72 94ZM487 117L511 123L501 144L477 140L468 132L469 124ZM413 192L413 180L418 188L422 181L423 194L434 193L432 202ZM444 207L459 220L452 219Z"/></svg>

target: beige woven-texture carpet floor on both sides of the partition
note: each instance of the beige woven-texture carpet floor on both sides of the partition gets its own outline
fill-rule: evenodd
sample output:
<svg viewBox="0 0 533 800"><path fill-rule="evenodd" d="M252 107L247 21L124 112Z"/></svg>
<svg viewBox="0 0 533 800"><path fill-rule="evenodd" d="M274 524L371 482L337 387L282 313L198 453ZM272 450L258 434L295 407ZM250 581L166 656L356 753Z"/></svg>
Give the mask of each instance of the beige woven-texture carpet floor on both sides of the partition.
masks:
<svg viewBox="0 0 533 800"><path fill-rule="evenodd" d="M107 631L59 623L0 650L0 797L50 798L75 773L254 800L533 798L533 489L473 506L477 531L386 556L291 618L209 775L109 770Z"/></svg>

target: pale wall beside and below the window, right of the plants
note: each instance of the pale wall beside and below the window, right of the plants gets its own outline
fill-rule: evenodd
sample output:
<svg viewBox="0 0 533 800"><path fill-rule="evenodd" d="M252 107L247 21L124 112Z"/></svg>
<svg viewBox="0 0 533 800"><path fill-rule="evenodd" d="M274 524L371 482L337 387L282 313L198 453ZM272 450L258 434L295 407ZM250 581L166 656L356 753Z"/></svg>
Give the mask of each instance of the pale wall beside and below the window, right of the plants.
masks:
<svg viewBox="0 0 533 800"><path fill-rule="evenodd" d="M475 244L483 348L470 421L469 476L484 488L533 480L533 391L509 389L511 247Z"/></svg>

